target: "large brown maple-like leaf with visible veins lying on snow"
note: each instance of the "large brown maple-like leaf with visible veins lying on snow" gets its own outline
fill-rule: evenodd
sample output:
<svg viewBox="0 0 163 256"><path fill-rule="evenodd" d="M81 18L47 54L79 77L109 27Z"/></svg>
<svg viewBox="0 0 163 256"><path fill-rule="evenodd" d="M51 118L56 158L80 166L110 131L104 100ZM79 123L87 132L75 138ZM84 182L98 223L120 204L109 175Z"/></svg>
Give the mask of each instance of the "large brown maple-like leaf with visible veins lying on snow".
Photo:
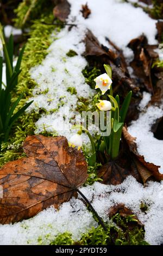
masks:
<svg viewBox="0 0 163 256"><path fill-rule="evenodd" d="M23 149L28 157L1 169L2 224L33 217L50 205L59 206L87 179L82 151L69 148L65 137L28 136Z"/></svg>

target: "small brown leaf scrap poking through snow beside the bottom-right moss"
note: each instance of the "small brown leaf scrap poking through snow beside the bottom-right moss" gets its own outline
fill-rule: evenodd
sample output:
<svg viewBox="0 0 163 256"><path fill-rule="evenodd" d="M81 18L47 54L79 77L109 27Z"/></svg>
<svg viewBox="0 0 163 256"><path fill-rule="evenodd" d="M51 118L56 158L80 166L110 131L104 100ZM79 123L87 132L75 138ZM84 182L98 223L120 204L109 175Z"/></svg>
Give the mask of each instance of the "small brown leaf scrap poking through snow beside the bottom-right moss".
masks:
<svg viewBox="0 0 163 256"><path fill-rule="evenodd" d="M121 217L127 217L127 216L130 216L130 215L133 216L133 219L135 221L134 222L131 221L131 222L128 223L129 224L129 229L134 228L137 225L140 226L140 227L143 227L143 224L139 221L139 219L133 213L133 211L131 211L131 209L127 208L124 204L117 204L117 205L112 206L109 209L109 212L108 212L109 218L111 218L115 214L120 214Z"/></svg>

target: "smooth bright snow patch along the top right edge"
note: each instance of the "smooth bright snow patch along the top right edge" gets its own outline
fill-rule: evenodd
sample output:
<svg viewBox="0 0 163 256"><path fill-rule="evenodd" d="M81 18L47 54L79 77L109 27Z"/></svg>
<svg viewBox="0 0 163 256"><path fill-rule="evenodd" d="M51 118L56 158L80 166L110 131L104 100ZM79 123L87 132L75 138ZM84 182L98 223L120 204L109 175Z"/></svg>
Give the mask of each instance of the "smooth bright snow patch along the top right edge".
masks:
<svg viewBox="0 0 163 256"><path fill-rule="evenodd" d="M149 44L156 44L156 20L146 14L142 8L135 8L129 3L118 0L68 0L71 4L72 20L89 28L103 45L108 45L105 36L127 53L127 45L131 39L145 34ZM87 3L91 10L88 19L80 12L82 4ZM75 17L75 18L74 18Z"/></svg>

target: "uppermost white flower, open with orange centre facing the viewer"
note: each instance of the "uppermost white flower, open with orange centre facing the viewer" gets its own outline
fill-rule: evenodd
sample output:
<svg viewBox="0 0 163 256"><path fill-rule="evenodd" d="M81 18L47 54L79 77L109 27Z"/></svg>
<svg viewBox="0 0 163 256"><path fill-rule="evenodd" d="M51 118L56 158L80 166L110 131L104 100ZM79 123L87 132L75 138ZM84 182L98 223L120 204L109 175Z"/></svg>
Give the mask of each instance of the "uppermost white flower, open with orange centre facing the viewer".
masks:
<svg viewBox="0 0 163 256"><path fill-rule="evenodd" d="M94 81L96 82L95 89L101 89L102 94L104 94L106 90L110 89L112 83L111 78L106 73L97 76Z"/></svg>

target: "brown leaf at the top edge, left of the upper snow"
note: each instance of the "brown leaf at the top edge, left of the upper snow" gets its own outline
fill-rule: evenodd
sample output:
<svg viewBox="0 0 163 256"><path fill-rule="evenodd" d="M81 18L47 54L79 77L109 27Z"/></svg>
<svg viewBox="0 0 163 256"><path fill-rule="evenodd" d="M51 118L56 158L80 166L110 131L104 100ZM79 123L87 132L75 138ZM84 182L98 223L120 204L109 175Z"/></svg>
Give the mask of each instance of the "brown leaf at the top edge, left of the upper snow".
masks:
<svg viewBox="0 0 163 256"><path fill-rule="evenodd" d="M53 9L53 14L60 21L65 22L70 14L70 3L67 0L57 1L57 5Z"/></svg>

